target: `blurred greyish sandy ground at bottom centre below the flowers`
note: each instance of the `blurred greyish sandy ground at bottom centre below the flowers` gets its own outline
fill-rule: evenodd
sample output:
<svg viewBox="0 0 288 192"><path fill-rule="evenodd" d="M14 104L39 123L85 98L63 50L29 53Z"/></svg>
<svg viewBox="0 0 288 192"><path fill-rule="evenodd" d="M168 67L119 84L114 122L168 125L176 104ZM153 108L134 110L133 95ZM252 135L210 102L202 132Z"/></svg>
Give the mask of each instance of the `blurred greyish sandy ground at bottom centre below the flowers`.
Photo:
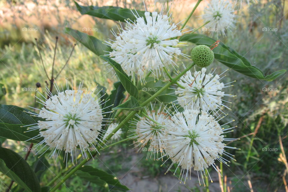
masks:
<svg viewBox="0 0 288 192"><path fill-rule="evenodd" d="M199 186L197 172L193 171L191 174L191 180L186 180L186 183L180 183L180 180L172 173L167 175L160 174L159 176L150 176L144 170L146 167L141 167L141 161L145 161L146 154L137 154L135 149L128 149L127 153L130 158L127 158L122 164L122 170L114 172L114 174L120 179L122 184L125 184L132 192L160 192L160 191L182 191L182 192L198 192L206 191L206 188L202 185ZM103 154L104 155L104 154ZM101 155L102 156L102 155ZM127 156L128 157L128 156ZM111 158L109 155L102 156L100 162L102 162L104 167L107 159ZM111 160L110 160L111 161ZM116 161L121 163L119 161ZM107 165L107 167L109 167ZM106 167L106 168L107 168ZM161 169L166 169L164 166ZM125 170L125 171L124 171ZM210 173L213 183L209 183L210 192L221 191L218 174L216 171L211 171Z"/></svg>

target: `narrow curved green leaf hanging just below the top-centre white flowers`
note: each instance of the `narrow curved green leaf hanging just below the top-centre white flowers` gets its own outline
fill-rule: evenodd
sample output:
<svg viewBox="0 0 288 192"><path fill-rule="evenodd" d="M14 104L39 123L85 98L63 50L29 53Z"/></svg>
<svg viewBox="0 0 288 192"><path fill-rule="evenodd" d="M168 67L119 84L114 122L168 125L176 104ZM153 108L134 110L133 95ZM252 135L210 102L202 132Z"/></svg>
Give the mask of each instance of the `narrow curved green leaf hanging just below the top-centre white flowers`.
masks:
<svg viewBox="0 0 288 192"><path fill-rule="evenodd" d="M122 85L124 86L126 91L130 94L130 96L133 96L134 98L138 99L138 97L139 97L138 96L138 89L131 82L131 79L124 72L121 65L119 63L117 63L116 61L114 61L113 59L111 59L110 57L103 56L103 55L101 55L100 57L103 58L105 61L108 61L111 64L111 66L114 68L117 76L119 77Z"/></svg>

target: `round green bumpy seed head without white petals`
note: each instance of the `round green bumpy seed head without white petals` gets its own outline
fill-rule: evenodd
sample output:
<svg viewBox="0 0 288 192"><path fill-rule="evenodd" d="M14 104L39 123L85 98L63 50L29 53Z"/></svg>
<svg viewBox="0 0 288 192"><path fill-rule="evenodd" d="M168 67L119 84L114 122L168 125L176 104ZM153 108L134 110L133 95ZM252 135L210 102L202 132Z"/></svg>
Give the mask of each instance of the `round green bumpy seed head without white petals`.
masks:
<svg viewBox="0 0 288 192"><path fill-rule="evenodd" d="M198 45L191 51L193 62L199 67L207 67L214 60L213 51L206 45Z"/></svg>

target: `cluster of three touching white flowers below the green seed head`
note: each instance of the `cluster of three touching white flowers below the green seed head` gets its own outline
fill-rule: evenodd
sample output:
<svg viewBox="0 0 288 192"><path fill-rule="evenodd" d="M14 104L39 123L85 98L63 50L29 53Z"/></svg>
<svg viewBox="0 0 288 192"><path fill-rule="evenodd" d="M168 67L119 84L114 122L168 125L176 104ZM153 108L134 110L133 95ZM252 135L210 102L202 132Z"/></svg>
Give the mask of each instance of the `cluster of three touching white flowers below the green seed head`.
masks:
<svg viewBox="0 0 288 192"><path fill-rule="evenodd" d="M136 125L134 138L139 142L137 146L141 145L139 150L150 146L156 149L155 153L161 151L161 158L167 156L173 164L177 164L177 168L181 167L179 179L184 183L188 175L191 176L188 172L192 169L200 171L204 183L203 176L207 177L205 170L208 171L208 167L212 166L217 172L219 171L215 160L224 164L229 162L223 155L235 160L234 155L225 151L225 148L232 147L226 146L223 142L236 139L224 138L223 134L233 131L232 129L237 126L224 128L219 124L219 120L228 115L222 115L223 107L228 108L222 103L225 101L222 97L235 95L225 94L222 91L223 88L232 86L227 85L231 82L226 84L219 82L227 70L220 75L213 75L215 70L212 70L206 74L206 68L202 68L193 75L188 71L177 82L179 88L175 93L178 95L178 104L184 109L183 112L179 112L176 105L169 110L160 107L157 112L152 107L152 112L146 109L147 115L139 116L138 122L134 122ZM150 158L151 156L151 153L147 155ZM167 172L171 167L172 165L168 167Z"/></svg>

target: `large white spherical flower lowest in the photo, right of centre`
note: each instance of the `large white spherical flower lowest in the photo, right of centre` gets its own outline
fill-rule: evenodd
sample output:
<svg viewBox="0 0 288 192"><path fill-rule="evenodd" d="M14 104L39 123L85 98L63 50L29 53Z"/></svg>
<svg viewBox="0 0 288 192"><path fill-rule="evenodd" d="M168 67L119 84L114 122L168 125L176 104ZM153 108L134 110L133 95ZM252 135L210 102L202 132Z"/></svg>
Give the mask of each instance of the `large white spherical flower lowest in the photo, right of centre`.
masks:
<svg viewBox="0 0 288 192"><path fill-rule="evenodd" d="M229 129L232 128L226 130ZM209 166L216 169L214 165L216 159L225 164L229 162L220 155L230 157L230 154L225 152L224 148L231 147L222 142L235 139L224 139L223 134L227 133L224 131L224 128L221 128L212 115L203 111L200 114L198 110L177 112L171 117L170 121L167 121L164 139L165 152L170 156L173 163L181 167L182 176L179 176L181 181L186 181L191 169L201 171L201 175Z"/></svg>

